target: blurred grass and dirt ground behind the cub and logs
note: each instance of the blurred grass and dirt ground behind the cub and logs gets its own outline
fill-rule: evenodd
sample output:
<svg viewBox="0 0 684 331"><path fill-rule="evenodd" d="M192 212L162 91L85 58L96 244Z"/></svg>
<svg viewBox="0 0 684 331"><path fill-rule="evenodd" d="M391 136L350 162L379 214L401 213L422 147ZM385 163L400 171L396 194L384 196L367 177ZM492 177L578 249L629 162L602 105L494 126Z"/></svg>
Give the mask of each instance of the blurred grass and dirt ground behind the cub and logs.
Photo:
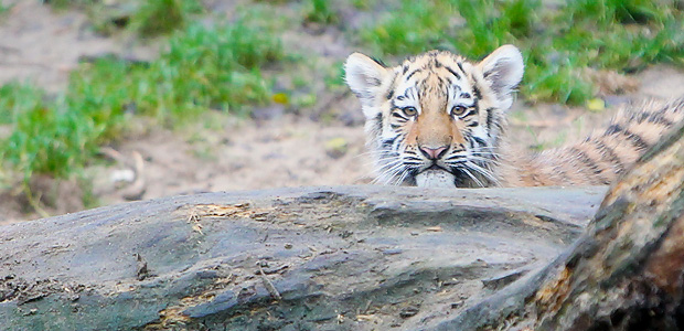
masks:
<svg viewBox="0 0 684 331"><path fill-rule="evenodd" d="M368 183L342 63L515 44L531 151L684 95L684 1L0 0L0 224L130 200Z"/></svg>

